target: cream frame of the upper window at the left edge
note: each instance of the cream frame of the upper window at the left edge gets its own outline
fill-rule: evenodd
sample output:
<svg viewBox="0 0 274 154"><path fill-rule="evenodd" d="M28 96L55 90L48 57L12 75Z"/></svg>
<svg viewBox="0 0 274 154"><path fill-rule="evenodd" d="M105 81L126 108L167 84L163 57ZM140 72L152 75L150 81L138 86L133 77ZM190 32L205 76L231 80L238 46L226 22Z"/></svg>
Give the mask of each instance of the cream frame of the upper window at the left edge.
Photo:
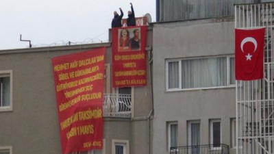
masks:
<svg viewBox="0 0 274 154"><path fill-rule="evenodd" d="M12 70L0 70L0 77L10 77L10 105L0 106L0 112L11 112L12 111Z"/></svg>

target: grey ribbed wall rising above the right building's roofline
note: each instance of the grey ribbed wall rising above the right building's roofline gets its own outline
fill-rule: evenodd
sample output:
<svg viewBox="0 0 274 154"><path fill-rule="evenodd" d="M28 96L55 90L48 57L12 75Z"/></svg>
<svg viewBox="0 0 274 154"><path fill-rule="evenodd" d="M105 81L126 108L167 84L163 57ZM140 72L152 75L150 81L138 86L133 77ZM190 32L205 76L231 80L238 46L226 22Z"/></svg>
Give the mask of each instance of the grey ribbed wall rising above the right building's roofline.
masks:
<svg viewBox="0 0 274 154"><path fill-rule="evenodd" d="M156 0L156 20L178 21L234 16L234 4L258 2L259 0Z"/></svg>

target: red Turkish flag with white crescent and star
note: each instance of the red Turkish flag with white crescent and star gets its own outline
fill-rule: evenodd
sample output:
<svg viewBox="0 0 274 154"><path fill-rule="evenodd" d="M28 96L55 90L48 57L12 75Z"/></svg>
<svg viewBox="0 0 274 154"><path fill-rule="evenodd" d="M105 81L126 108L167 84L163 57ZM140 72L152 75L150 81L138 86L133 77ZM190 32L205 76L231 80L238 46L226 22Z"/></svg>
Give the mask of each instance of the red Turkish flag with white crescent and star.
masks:
<svg viewBox="0 0 274 154"><path fill-rule="evenodd" d="M237 80L264 77L264 31L235 29L235 76Z"/></svg>

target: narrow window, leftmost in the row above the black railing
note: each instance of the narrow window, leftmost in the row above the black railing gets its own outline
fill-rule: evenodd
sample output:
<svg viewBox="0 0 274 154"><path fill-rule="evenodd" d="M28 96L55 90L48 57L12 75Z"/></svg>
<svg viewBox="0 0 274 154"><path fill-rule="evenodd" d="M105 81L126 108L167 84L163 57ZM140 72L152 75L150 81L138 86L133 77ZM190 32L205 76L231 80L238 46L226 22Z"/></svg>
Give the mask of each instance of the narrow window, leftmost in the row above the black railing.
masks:
<svg viewBox="0 0 274 154"><path fill-rule="evenodd" d="M178 146L178 123L169 122L167 123L168 132L168 148Z"/></svg>

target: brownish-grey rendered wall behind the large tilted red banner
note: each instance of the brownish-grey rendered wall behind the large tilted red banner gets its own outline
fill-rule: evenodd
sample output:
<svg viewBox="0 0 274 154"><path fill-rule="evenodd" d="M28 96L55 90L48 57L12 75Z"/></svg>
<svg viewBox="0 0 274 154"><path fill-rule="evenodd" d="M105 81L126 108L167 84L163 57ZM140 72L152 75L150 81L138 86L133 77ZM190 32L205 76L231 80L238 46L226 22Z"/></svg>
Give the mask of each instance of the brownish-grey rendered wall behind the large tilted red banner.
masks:
<svg viewBox="0 0 274 154"><path fill-rule="evenodd" d="M152 46L151 28L147 44ZM0 146L12 146L13 153L61 153L51 58L103 46L112 66L110 43L0 51L0 70L13 71L13 110L0 112ZM147 78L147 86L134 88L132 118L104 118L106 153L112 153L112 140L128 140L132 154L147 151L150 85Z"/></svg>

